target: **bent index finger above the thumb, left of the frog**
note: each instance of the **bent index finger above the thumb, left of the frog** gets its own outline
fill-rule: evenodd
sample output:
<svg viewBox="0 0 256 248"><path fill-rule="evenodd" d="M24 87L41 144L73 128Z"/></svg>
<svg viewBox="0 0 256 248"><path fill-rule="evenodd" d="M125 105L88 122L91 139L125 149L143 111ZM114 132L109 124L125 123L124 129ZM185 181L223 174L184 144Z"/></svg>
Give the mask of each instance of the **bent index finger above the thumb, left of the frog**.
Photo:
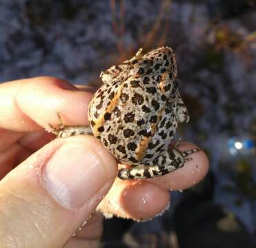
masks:
<svg viewBox="0 0 256 248"><path fill-rule="evenodd" d="M0 84L0 128L31 132L58 125L57 112L65 125L87 125L91 92L49 76Z"/></svg>

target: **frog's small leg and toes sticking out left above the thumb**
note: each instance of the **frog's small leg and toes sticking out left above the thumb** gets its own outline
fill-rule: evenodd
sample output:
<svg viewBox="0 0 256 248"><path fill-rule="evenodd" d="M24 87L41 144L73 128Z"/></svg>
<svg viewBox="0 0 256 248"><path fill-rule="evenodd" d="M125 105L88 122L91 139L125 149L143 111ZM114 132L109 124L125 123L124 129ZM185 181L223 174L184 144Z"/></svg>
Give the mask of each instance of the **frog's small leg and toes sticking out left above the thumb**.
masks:
<svg viewBox="0 0 256 248"><path fill-rule="evenodd" d="M59 120L59 126L54 127L50 123L48 125L50 127L49 131L52 132L52 134L55 134L58 138L68 138L70 136L75 136L80 134L92 134L92 130L90 126L86 126L86 125L66 126L66 125L63 125L63 121L59 112L57 112L57 116Z"/></svg>

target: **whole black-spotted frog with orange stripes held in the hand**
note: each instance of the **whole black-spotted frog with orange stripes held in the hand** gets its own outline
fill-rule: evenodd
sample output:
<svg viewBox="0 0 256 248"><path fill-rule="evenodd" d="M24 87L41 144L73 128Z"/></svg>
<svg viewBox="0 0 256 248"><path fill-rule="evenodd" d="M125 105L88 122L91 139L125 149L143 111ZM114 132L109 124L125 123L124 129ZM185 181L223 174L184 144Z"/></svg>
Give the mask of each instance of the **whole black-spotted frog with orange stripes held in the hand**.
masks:
<svg viewBox="0 0 256 248"><path fill-rule="evenodd" d="M63 127L58 136L92 134L117 158L130 165L122 179L154 178L184 166L192 149L170 147L178 123L189 115L178 91L173 50L157 48L113 65L100 77L104 85L90 101L90 127Z"/></svg>

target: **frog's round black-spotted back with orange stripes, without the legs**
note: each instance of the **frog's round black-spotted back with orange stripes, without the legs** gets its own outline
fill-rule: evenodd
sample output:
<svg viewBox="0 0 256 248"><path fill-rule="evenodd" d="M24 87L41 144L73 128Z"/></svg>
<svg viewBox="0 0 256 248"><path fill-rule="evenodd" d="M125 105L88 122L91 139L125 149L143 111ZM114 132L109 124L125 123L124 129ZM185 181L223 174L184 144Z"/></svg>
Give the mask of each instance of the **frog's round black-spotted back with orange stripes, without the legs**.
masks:
<svg viewBox="0 0 256 248"><path fill-rule="evenodd" d="M90 103L92 131L120 161L152 163L177 128L177 68L170 48L137 60L105 84Z"/></svg>

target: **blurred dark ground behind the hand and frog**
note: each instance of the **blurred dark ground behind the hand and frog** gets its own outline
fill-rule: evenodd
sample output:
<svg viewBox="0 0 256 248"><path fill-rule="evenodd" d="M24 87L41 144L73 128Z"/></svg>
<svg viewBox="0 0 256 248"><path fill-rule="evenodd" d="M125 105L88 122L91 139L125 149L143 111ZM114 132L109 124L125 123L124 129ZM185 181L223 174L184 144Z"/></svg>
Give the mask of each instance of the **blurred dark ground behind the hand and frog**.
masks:
<svg viewBox="0 0 256 248"><path fill-rule="evenodd" d="M102 247L256 247L256 1L0 1L0 82L99 86L102 70L162 45L190 113L179 136L207 152L210 172L162 216L106 220Z"/></svg>

